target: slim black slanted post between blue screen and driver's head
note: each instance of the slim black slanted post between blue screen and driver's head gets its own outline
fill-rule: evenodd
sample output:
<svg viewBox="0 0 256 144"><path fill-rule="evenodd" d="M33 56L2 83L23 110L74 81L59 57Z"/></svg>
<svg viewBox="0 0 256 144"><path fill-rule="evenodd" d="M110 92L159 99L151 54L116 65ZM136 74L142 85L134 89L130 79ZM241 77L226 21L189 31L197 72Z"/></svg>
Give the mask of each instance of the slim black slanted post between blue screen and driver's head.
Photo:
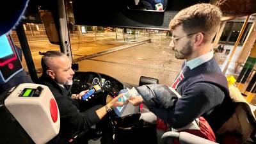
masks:
<svg viewBox="0 0 256 144"><path fill-rule="evenodd" d="M21 46L22 52L24 54L24 58L26 60L27 66L28 66L29 75L31 77L31 80L34 83L36 83L38 81L38 76L36 74L35 64L34 64L32 56L31 56L31 51L30 51L29 45L28 45L28 39L26 37L22 23L20 23L17 26L16 31L17 31L17 35L18 35L18 38L20 41L20 46Z"/></svg>

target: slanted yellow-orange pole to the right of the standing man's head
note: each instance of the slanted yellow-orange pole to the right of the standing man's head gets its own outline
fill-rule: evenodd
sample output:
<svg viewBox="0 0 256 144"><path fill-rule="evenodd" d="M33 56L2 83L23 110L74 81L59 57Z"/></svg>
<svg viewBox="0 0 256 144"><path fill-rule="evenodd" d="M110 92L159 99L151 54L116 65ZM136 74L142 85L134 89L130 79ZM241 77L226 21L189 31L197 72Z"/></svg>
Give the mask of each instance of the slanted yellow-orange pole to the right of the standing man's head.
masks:
<svg viewBox="0 0 256 144"><path fill-rule="evenodd" d="M246 20L244 21L243 27L242 27L242 29L241 29L241 31L240 31L240 33L239 33L239 36L238 36L238 38L237 38L237 40L236 40L236 44L234 45L234 48L233 48L233 50L232 50L232 53L230 54L230 57L228 58L227 65L225 66L225 68L224 68L224 70L223 70L223 74L226 74L226 72L227 72L228 65L229 65L231 59L232 59L233 56L234 56L234 53L235 53L235 51L236 51L236 47L237 47L237 45L239 44L239 41L240 41L240 39L241 39L241 37L242 37L242 35L243 35L243 33L244 33L244 29L246 28L246 25L247 25L247 23L248 23L249 18L250 18L250 15L248 15L248 16L246 17Z"/></svg>

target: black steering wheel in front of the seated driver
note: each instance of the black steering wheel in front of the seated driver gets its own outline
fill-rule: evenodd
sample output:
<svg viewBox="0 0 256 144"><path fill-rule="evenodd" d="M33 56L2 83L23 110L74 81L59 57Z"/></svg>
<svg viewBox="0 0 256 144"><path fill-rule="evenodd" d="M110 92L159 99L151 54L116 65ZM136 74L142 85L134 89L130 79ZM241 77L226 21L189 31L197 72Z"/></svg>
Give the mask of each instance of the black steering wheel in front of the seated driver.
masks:
<svg viewBox="0 0 256 144"><path fill-rule="evenodd" d="M93 83L93 79L97 78L98 83ZM83 90L91 89L95 84L101 84L101 76L97 72L81 72L74 78L71 87L72 93L80 93Z"/></svg>

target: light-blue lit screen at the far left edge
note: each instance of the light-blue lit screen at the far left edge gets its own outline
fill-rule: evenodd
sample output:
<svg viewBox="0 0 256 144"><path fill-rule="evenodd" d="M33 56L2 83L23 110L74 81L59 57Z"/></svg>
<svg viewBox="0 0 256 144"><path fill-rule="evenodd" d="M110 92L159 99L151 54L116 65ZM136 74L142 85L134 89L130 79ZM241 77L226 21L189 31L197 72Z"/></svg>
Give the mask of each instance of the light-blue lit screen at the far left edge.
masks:
<svg viewBox="0 0 256 144"><path fill-rule="evenodd" d="M6 56L13 54L12 47L6 35L0 36L0 47L0 58L4 58Z"/></svg>

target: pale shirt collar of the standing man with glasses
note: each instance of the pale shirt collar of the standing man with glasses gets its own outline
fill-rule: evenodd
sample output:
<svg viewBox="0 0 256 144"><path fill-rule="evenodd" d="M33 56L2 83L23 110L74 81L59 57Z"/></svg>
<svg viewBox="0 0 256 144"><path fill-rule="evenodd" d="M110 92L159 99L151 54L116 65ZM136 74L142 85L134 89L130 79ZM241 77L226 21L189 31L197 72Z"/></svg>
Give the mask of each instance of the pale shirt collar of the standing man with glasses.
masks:
<svg viewBox="0 0 256 144"><path fill-rule="evenodd" d="M199 56L197 58L194 58L190 61L185 61L185 65L187 65L191 70L198 65L201 65L202 63L205 63L206 61L209 61L213 58L213 51L210 51L202 56Z"/></svg>

